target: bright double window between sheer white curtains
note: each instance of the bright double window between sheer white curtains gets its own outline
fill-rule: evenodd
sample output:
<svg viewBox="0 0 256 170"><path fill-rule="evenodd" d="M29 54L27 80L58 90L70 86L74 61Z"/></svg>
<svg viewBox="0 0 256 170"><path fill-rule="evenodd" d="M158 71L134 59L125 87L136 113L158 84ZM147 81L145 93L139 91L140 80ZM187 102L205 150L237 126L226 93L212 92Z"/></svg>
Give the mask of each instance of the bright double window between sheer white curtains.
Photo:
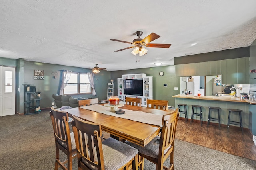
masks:
<svg viewBox="0 0 256 170"><path fill-rule="evenodd" d="M92 87L88 75L72 72L63 94L88 94L92 93Z"/></svg>

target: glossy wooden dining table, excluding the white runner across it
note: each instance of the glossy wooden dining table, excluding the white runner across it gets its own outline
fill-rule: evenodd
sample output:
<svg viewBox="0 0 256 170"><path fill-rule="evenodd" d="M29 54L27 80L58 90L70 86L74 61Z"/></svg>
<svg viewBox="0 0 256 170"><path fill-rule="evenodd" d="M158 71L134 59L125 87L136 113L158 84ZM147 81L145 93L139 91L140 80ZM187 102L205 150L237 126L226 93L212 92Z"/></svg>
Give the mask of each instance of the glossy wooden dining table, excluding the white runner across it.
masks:
<svg viewBox="0 0 256 170"><path fill-rule="evenodd" d="M124 105L119 107L119 109L143 111L149 114L157 115L166 115L174 112L174 110L166 111L130 105ZM142 147L146 146L161 131L161 127L157 125L151 125L138 121L132 121L130 119L106 115L80 107L65 109L62 111L68 112L69 116L76 115L77 117L86 121L98 123L101 125L103 131L115 135L121 139L128 140Z"/></svg>

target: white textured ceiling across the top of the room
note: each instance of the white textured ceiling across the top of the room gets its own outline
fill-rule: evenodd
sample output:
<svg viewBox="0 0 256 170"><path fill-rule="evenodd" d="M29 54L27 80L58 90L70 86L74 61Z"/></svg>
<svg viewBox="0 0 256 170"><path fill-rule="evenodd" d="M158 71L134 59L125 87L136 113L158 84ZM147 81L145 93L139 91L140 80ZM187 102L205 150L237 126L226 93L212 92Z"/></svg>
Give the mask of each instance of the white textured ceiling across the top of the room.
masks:
<svg viewBox="0 0 256 170"><path fill-rule="evenodd" d="M147 48L142 57L132 49L114 52L131 45L110 39L132 42L136 31L172 45ZM0 57L26 61L127 70L248 47L255 39L256 0L2 0L0 6Z"/></svg>

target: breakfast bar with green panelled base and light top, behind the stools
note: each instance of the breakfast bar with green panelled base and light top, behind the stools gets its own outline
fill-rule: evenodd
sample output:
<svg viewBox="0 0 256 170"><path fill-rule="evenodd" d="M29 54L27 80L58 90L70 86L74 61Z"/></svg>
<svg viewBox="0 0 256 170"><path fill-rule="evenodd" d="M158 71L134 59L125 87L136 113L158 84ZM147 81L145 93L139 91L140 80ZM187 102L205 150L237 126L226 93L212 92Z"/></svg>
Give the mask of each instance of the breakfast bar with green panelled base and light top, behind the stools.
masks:
<svg viewBox="0 0 256 170"><path fill-rule="evenodd" d="M250 123L250 114L249 113L249 105L255 104L249 100L240 100L239 97L229 97L229 96L192 96L192 95L183 95L178 94L172 96L175 98L175 108L178 108L178 104L187 104L187 113L188 119L191 119L192 114L192 105L201 105L202 106L202 119L204 124L207 124L208 121L208 113L209 113L209 106L220 107L220 123L223 125L227 125L228 123L228 109L241 109L242 112L242 123L244 128L249 128L251 126ZM183 107L181 111L184 110ZM196 111L198 112L198 110ZM215 110L212 111L211 116L216 118L218 115ZM215 112L215 113L214 113ZM180 114L180 117L184 117L184 114ZM232 119L234 121L239 120L238 114L232 114ZM194 120L200 120L200 117L194 116ZM188 120L190 121L190 120ZM215 123L210 121L211 123ZM234 125L238 126L238 125Z"/></svg>

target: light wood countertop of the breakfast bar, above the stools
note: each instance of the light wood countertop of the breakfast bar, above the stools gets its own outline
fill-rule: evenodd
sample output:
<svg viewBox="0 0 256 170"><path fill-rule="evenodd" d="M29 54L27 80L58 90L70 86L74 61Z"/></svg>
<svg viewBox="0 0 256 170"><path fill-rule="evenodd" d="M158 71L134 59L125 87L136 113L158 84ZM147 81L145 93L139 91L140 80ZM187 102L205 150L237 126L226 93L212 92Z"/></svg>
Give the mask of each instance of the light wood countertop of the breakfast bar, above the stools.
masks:
<svg viewBox="0 0 256 170"><path fill-rule="evenodd" d="M199 99L199 100L218 100L218 101L227 101L227 102L249 103L248 102L249 100L240 100L239 97L228 97L228 96L200 96L200 97L198 97L198 96L192 96L192 95L177 94L172 97L173 98L188 98L188 99Z"/></svg>

